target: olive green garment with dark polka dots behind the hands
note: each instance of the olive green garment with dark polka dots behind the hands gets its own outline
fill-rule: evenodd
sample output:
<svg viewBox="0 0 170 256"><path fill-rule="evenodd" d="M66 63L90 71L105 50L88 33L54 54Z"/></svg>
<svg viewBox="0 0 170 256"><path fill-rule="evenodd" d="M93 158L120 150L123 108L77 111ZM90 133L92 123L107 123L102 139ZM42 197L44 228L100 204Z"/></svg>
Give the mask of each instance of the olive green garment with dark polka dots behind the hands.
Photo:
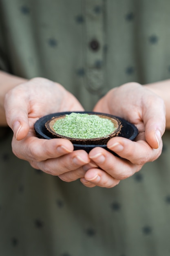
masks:
<svg viewBox="0 0 170 256"><path fill-rule="evenodd" d="M64 85L92 110L115 86L170 78L168 0L1 0L0 68ZM170 255L170 132L113 189L31 168L0 128L0 255Z"/></svg>

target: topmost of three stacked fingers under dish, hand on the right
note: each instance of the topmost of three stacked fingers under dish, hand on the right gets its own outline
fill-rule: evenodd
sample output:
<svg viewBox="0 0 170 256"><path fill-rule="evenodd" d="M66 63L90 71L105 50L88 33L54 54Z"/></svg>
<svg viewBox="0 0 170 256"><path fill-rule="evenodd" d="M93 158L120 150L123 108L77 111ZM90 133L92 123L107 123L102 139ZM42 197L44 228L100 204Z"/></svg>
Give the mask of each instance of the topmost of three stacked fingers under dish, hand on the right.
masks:
<svg viewBox="0 0 170 256"><path fill-rule="evenodd" d="M132 164L143 165L159 157L162 141L158 149L153 149L144 141L131 141L122 137L115 137L108 141L107 147L120 157L128 159Z"/></svg>

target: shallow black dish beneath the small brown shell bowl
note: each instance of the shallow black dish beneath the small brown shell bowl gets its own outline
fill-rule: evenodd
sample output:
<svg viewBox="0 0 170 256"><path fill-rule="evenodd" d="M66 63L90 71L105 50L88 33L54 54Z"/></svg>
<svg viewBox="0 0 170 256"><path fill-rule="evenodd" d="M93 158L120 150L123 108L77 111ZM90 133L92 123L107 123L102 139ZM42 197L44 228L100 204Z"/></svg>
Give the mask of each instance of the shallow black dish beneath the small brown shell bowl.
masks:
<svg viewBox="0 0 170 256"><path fill-rule="evenodd" d="M76 113L76 111L75 111L75 113ZM90 111L77 112L77 113L88 113L91 115L105 115L108 118L118 119L121 123L121 131L119 132L119 134L117 136L124 137L124 138L130 139L130 140L134 140L136 138L136 136L138 135L138 130L137 130L136 126L134 126L133 124L129 123L128 121L122 119L121 117L116 117L113 115L99 113L99 112L90 112ZM58 113L46 115L46 116L38 119L38 121L36 121L34 124L34 128L35 128L37 137L40 139L56 138L55 134L53 134L53 132L51 132L47 129L46 123L48 123L50 120L60 117L62 115L69 115L69 114L71 114L71 112L58 112ZM102 147L102 148L108 150L109 152L113 153L114 155L116 155L113 151L111 151L107 148L106 144L84 145L84 144L73 143L73 146L74 146L74 150L83 149L83 150L86 150L87 153L89 153L91 151L91 149L93 149L95 147Z"/></svg>

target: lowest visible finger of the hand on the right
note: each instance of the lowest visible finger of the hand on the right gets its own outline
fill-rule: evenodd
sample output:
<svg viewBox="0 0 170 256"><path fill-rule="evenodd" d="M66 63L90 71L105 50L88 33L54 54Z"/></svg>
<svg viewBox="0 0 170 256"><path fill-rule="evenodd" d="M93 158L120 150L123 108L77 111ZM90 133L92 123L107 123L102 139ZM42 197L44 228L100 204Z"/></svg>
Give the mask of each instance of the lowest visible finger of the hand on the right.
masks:
<svg viewBox="0 0 170 256"><path fill-rule="evenodd" d="M100 186L104 188L112 188L120 182L105 171L98 168L88 170L84 176L84 179L80 180L85 186Z"/></svg>

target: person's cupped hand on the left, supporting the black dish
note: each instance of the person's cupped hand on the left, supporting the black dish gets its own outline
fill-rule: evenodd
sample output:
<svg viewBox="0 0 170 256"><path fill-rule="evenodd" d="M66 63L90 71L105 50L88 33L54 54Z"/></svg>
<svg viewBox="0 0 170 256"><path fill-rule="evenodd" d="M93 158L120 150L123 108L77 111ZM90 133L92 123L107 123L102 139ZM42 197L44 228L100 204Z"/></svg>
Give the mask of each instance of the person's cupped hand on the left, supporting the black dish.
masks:
<svg viewBox="0 0 170 256"><path fill-rule="evenodd" d="M20 159L67 182L84 177L88 168L95 167L84 150L73 151L71 141L39 139L35 135L34 123L40 117L84 110L62 85L43 78L31 79L6 94L4 108L7 124L14 133L13 153Z"/></svg>

